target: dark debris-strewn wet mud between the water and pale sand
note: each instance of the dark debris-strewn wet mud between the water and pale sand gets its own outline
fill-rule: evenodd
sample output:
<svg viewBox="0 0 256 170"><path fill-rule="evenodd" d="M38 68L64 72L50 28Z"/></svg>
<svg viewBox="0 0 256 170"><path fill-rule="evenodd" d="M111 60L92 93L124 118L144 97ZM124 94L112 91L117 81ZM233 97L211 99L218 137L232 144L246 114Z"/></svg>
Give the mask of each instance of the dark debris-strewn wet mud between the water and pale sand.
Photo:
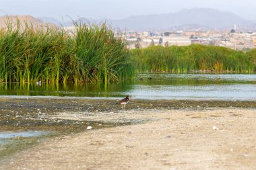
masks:
<svg viewBox="0 0 256 170"><path fill-rule="evenodd" d="M38 144L53 136L84 132L88 126L106 128L138 124L147 120L98 122L85 120L49 119L61 112L93 115L104 112L121 112L115 99L84 99L66 97L1 97L0 132L42 130L51 132L34 138L14 138L8 144L0 143L0 159ZM131 100L126 110L211 110L214 108L256 108L256 101L185 101L185 100Z"/></svg>

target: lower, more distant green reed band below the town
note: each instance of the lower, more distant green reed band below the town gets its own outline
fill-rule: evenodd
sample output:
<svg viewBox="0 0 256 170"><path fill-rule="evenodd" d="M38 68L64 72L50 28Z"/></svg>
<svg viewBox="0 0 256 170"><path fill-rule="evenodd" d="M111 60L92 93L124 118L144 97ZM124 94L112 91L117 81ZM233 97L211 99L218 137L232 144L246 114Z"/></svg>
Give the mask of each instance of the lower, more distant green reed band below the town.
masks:
<svg viewBox="0 0 256 170"><path fill-rule="evenodd" d="M149 46L131 50L139 73L212 71L218 73L253 73L256 50L248 53L219 46Z"/></svg>

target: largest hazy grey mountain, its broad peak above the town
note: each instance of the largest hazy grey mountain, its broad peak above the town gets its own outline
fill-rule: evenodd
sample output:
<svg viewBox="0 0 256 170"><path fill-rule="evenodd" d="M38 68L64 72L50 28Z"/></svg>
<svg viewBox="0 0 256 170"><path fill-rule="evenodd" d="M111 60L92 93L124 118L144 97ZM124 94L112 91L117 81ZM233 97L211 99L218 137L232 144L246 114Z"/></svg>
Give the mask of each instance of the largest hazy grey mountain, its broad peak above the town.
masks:
<svg viewBox="0 0 256 170"><path fill-rule="evenodd" d="M247 21L234 13L205 8L183 9L177 13L160 15L131 16L112 21L112 23L113 26L135 30L172 28L183 25L199 25L218 29L234 28L234 24L242 27L253 26L253 22Z"/></svg>

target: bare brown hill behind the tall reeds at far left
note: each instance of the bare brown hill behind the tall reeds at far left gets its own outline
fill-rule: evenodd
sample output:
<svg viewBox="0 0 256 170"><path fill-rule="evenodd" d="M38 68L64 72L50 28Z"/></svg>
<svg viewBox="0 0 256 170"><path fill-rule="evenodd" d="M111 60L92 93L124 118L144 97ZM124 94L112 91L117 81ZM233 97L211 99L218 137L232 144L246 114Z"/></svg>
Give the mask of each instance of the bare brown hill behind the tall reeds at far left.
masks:
<svg viewBox="0 0 256 170"><path fill-rule="evenodd" d="M7 28L8 24L11 24L13 28L17 28L18 21L20 22L20 29L24 30L26 24L33 27L34 29L38 28L57 28L55 24L44 23L40 19L32 17L30 15L5 15L0 17L0 28Z"/></svg>

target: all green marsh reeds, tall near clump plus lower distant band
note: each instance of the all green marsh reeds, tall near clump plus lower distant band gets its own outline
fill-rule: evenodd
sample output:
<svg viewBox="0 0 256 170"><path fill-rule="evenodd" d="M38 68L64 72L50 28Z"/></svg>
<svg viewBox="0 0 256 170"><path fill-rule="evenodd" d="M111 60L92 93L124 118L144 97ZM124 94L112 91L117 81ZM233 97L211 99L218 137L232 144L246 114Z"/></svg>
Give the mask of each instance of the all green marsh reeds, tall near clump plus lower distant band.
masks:
<svg viewBox="0 0 256 170"><path fill-rule="evenodd" d="M219 46L150 46L129 50L120 32L106 24L74 23L73 31L20 29L17 22L0 30L0 82L97 83L132 79L135 73L253 73L256 50Z"/></svg>

